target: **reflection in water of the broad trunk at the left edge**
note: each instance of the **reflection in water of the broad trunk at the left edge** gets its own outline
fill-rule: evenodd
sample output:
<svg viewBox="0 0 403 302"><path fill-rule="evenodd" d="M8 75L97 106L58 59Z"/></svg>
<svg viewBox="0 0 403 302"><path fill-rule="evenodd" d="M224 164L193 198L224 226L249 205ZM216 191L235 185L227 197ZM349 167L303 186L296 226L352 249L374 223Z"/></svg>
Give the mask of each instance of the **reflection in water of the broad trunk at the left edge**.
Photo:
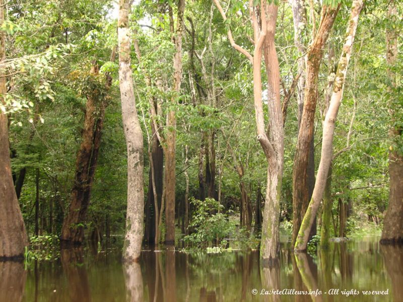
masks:
<svg viewBox="0 0 403 302"><path fill-rule="evenodd" d="M27 274L20 262L0 262L0 302L23 299Z"/></svg>

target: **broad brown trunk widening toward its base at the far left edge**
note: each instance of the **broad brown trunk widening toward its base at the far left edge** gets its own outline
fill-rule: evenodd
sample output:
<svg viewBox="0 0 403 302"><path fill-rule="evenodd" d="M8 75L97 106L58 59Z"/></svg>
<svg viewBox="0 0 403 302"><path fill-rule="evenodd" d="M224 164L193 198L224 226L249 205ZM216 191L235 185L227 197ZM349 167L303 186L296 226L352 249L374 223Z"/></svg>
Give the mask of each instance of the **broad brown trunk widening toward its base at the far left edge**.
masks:
<svg viewBox="0 0 403 302"><path fill-rule="evenodd" d="M0 26L4 24L4 0L0 0ZM6 59L6 33L0 32L0 60ZM7 94L4 70L0 70L0 100ZM22 258L27 233L11 173L7 115L0 110L0 260Z"/></svg>

